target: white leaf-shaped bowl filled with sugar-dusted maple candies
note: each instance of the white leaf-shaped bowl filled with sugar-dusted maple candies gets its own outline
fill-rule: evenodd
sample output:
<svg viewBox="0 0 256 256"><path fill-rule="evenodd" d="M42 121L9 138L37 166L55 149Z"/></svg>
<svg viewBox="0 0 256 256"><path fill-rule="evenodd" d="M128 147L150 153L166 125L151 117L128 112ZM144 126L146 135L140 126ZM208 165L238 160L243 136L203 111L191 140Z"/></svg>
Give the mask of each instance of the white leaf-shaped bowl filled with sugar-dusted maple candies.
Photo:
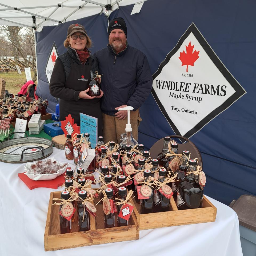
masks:
<svg viewBox="0 0 256 256"><path fill-rule="evenodd" d="M45 160L39 160L33 163L26 163L24 174L35 181L55 179L63 174L69 163L56 161L53 157Z"/></svg>

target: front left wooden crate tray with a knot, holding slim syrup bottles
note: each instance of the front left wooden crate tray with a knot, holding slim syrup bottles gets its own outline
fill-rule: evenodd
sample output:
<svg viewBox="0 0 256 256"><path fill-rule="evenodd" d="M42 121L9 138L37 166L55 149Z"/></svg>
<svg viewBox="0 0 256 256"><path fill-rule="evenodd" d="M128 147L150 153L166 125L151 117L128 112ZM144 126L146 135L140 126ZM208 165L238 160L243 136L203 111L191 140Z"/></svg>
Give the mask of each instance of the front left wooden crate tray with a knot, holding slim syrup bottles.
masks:
<svg viewBox="0 0 256 256"><path fill-rule="evenodd" d="M50 194L44 235L45 251L139 239L139 226L134 213L129 219L128 226L104 229L104 217L102 204L100 203L96 206L96 219L90 215L89 231L78 230L77 212L75 212L72 233L60 234L59 206L52 205L54 202L58 202L53 201L53 198L60 198L60 195L61 191L51 192ZM94 205L98 200L98 198L94 199Z"/></svg>

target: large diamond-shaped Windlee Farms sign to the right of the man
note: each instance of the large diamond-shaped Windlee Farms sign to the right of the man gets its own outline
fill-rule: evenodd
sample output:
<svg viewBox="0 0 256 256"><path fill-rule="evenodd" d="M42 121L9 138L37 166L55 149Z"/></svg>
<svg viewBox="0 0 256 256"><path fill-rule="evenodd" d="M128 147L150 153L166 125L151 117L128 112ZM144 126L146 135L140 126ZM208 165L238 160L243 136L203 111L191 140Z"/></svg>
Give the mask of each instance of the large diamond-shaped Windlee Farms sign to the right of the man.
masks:
<svg viewBox="0 0 256 256"><path fill-rule="evenodd" d="M245 93L194 23L153 74L155 101L174 132L186 138Z"/></svg>

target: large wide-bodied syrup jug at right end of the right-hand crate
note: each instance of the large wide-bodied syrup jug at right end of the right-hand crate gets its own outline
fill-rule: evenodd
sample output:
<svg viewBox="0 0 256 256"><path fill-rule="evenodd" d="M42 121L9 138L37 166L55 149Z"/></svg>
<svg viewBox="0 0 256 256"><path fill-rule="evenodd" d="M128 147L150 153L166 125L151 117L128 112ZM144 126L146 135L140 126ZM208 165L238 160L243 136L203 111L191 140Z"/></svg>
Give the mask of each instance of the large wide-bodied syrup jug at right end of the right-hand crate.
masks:
<svg viewBox="0 0 256 256"><path fill-rule="evenodd" d="M197 167L196 160L189 160L187 173L195 171ZM198 175L187 174L185 179L179 184L177 191L176 204L179 210L195 209L202 207L203 190L198 182Z"/></svg>

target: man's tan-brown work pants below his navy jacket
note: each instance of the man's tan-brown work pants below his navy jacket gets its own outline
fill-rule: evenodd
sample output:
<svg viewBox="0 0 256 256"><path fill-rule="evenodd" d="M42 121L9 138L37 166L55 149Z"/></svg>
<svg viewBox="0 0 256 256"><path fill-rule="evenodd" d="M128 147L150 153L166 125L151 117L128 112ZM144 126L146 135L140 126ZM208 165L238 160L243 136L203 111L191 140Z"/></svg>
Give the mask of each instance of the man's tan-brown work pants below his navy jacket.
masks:
<svg viewBox="0 0 256 256"><path fill-rule="evenodd" d="M104 143L114 141L120 143L121 134L125 133L127 117L123 120L118 120L115 116L102 113L103 117L103 134ZM142 119L139 116L139 110L130 111L130 123L133 128L133 138L138 141L138 126Z"/></svg>

